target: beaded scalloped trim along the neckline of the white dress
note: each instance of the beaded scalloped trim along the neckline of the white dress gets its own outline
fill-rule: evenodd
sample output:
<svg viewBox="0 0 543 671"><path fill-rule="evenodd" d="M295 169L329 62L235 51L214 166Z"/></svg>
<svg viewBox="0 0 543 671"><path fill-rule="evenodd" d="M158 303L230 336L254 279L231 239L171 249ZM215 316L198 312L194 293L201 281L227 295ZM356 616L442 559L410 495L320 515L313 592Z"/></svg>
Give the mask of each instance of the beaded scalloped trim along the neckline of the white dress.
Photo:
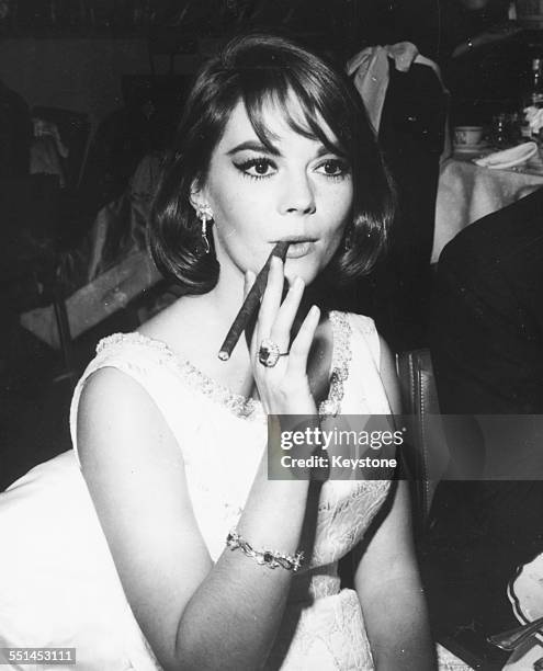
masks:
<svg viewBox="0 0 543 671"><path fill-rule="evenodd" d="M318 407L320 416L338 414L343 398L343 383L349 377L349 364L351 352L351 325L346 312L331 310L329 312L332 330L332 354L330 371L328 375L328 396ZM170 364L179 371L183 380L212 401L223 406L229 412L240 419L265 420L265 413L261 401L237 394L226 385L215 380L195 366L189 359L173 352L162 340L144 336L138 331L131 333L113 333L100 340L97 345L97 354L103 353L115 345L124 343L150 348L161 355L160 363Z"/></svg>

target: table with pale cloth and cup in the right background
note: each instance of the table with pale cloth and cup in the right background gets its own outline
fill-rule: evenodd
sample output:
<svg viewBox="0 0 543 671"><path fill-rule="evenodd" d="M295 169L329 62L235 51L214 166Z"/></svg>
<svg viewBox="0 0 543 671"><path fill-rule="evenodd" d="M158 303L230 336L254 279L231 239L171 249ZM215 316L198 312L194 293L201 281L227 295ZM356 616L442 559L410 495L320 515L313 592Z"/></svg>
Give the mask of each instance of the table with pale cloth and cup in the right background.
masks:
<svg viewBox="0 0 543 671"><path fill-rule="evenodd" d="M468 156L443 161L431 262L438 262L443 247L463 228L519 201L538 185L543 186L543 166L535 162L521 172L479 168Z"/></svg>

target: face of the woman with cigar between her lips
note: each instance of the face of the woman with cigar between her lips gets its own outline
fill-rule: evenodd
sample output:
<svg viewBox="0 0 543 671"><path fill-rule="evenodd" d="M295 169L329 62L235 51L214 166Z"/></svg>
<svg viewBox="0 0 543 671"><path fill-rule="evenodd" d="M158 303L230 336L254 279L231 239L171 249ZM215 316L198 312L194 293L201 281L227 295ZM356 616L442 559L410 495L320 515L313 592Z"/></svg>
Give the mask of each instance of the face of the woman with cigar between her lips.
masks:
<svg viewBox="0 0 543 671"><path fill-rule="evenodd" d="M291 114L303 122L292 102ZM259 140L238 103L215 147L197 202L213 211L220 278L258 273L279 240L292 240L285 275L313 282L338 249L352 204L346 160L290 128L274 105L263 122L273 151ZM328 138L336 137L324 125Z"/></svg>

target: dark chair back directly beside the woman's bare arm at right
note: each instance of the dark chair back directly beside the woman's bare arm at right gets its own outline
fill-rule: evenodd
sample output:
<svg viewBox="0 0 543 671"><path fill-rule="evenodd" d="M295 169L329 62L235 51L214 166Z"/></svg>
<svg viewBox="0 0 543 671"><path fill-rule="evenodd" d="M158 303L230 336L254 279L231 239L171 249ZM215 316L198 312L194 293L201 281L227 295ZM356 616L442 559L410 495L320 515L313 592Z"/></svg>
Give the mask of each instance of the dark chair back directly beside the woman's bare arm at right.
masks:
<svg viewBox="0 0 543 671"><path fill-rule="evenodd" d="M414 520L422 528L435 487L449 464L443 425L439 418L438 390L428 349L396 356L401 403L407 419L404 458L411 476Z"/></svg>

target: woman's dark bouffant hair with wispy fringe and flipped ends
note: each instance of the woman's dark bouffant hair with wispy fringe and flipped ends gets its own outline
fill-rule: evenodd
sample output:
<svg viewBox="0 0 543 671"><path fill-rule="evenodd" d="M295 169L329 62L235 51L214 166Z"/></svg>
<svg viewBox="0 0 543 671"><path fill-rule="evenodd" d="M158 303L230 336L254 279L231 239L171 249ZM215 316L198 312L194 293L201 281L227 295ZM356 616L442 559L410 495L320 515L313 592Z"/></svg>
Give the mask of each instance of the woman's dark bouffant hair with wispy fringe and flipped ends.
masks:
<svg viewBox="0 0 543 671"><path fill-rule="evenodd" d="M304 127L289 112L294 95ZM230 114L242 101L257 136L270 147L263 109L272 102L289 125L318 139L350 164L352 225L326 269L336 285L370 272L383 249L394 212L391 178L365 109L349 79L319 56L283 37L252 34L230 41L200 71L166 159L150 216L149 242L160 272L189 294L211 291L219 273L214 253L197 252L201 224L190 203L191 186L205 183L213 150ZM323 121L336 136L332 146Z"/></svg>

